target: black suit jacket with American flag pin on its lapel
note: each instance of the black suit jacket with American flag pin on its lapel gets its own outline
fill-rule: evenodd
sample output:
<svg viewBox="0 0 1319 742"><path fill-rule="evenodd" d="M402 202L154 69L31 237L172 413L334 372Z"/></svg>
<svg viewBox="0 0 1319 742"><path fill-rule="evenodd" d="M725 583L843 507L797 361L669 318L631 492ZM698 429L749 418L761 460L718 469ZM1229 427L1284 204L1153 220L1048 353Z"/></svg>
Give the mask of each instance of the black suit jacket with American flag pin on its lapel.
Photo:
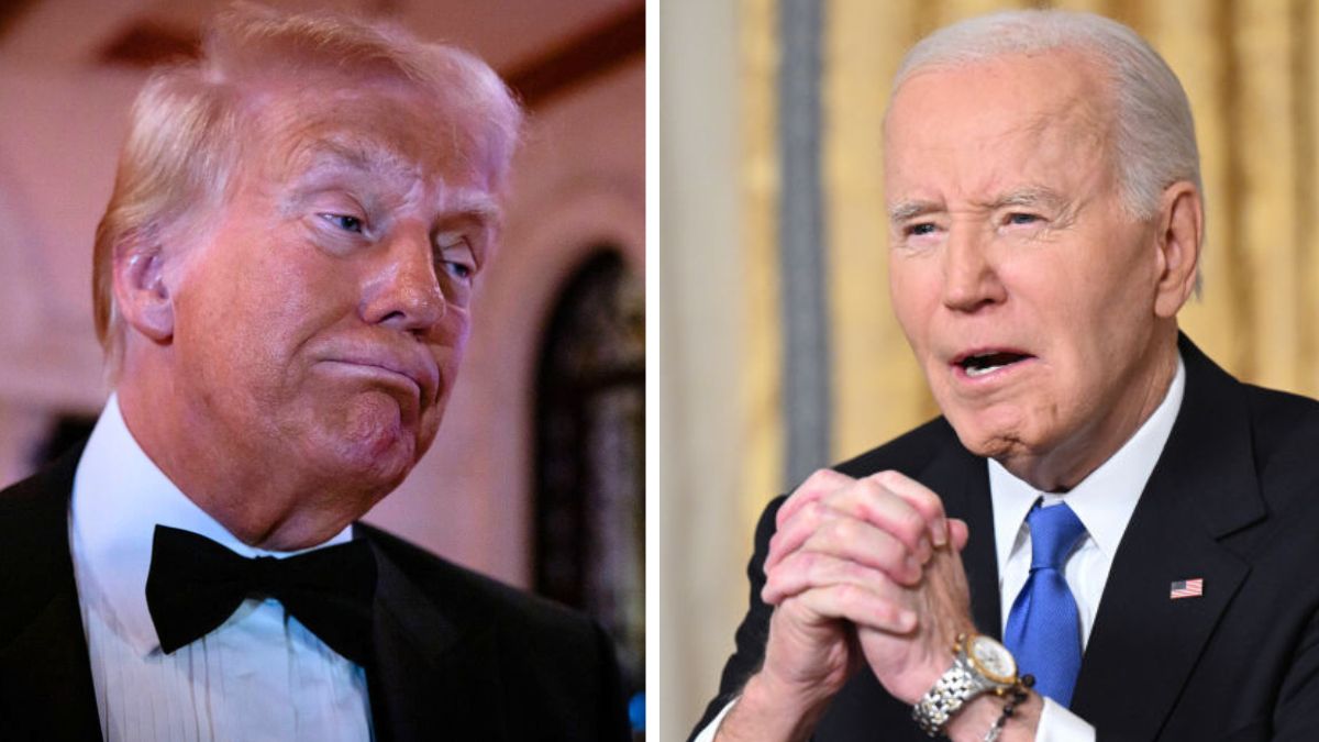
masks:
<svg viewBox="0 0 1319 742"><path fill-rule="evenodd" d="M1113 558L1071 709L1099 739L1319 739L1319 404L1236 382L1184 337L1186 395ZM900 470L971 527L963 552L980 631L998 635L988 467L942 419L840 471ZM774 500L748 568L751 610L704 727L760 667L760 601ZM1169 598L1178 580L1204 595ZM834 697L815 739L926 738L867 668Z"/></svg>

